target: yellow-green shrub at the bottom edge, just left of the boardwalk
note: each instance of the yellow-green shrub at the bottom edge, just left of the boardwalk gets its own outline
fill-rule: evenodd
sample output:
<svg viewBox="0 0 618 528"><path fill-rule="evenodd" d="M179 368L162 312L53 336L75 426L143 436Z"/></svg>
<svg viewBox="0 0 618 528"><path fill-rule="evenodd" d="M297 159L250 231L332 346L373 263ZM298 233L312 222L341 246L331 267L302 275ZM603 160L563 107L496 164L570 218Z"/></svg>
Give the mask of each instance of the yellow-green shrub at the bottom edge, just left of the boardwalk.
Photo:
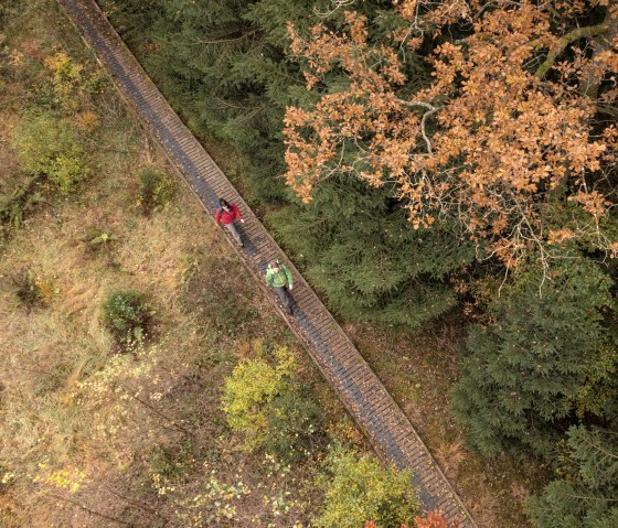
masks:
<svg viewBox="0 0 618 528"><path fill-rule="evenodd" d="M318 479L324 509L313 519L316 528L362 528L366 520L381 528L399 528L418 509L411 473L383 467L375 456L359 456L334 445L324 468Z"/></svg>

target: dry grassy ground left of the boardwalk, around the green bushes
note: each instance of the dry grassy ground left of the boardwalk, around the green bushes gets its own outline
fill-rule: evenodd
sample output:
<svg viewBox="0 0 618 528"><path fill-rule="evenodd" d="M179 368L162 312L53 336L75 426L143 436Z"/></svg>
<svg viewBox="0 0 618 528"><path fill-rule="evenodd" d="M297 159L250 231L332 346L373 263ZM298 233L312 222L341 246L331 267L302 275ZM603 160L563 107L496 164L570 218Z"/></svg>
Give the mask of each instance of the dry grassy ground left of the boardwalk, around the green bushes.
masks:
<svg viewBox="0 0 618 528"><path fill-rule="evenodd" d="M6 197L22 177L13 130L53 99L45 58L67 54L89 79L98 68L53 1L15 2L0 33ZM0 525L306 522L320 505L319 461L247 452L221 409L224 379L256 348L287 346L331 433L364 441L188 190L164 176L172 197L145 212L140 174L169 168L111 85L96 84L73 116L90 112L92 173L70 194L42 186L1 246ZM152 345L117 354L102 303L128 289L152 306Z"/></svg>

